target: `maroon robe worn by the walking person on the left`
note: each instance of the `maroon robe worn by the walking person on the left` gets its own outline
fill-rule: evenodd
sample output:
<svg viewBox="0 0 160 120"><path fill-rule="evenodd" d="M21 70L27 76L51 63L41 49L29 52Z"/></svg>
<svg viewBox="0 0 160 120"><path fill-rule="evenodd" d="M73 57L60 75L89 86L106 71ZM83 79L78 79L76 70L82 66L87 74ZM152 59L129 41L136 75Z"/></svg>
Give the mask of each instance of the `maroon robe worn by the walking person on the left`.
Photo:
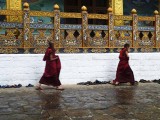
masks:
<svg viewBox="0 0 160 120"><path fill-rule="evenodd" d="M50 60L52 54L55 60ZM39 83L52 86L60 86L59 74L61 70L61 62L59 56L55 55L55 50L47 48L43 61L46 61L45 71Z"/></svg>

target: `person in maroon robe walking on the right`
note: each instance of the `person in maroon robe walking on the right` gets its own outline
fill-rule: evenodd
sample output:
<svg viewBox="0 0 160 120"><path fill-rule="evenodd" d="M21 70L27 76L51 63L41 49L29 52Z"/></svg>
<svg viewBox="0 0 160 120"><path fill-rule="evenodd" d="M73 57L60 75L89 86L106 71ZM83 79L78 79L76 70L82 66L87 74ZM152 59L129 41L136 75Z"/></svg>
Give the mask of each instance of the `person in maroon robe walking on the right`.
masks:
<svg viewBox="0 0 160 120"><path fill-rule="evenodd" d="M129 55L128 49L129 44L125 44L124 48L120 51L119 55L119 64L116 73L116 79L113 80L113 85L119 85L120 83L130 83L131 85L135 84L134 74L132 69L129 66Z"/></svg>

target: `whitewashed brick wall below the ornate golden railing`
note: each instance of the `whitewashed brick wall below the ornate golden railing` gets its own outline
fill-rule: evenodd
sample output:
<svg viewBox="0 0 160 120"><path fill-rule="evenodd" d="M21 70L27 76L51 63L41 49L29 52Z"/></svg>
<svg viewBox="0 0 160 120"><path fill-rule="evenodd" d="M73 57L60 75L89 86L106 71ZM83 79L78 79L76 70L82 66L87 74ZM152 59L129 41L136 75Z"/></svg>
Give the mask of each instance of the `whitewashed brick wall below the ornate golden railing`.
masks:
<svg viewBox="0 0 160 120"><path fill-rule="evenodd" d="M62 84L115 79L118 53L59 54ZM0 85L36 84L43 74L42 54L1 54ZM160 78L160 53L130 53L130 66L135 79Z"/></svg>

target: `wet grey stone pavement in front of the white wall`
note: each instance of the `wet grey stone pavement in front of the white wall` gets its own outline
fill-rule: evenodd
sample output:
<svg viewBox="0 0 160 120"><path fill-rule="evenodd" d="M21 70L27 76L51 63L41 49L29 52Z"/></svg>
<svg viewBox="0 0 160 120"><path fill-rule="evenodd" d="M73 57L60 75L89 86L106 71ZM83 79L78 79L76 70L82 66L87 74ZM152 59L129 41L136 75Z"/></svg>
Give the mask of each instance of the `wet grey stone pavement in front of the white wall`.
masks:
<svg viewBox="0 0 160 120"><path fill-rule="evenodd" d="M0 89L0 120L160 120L160 84Z"/></svg>

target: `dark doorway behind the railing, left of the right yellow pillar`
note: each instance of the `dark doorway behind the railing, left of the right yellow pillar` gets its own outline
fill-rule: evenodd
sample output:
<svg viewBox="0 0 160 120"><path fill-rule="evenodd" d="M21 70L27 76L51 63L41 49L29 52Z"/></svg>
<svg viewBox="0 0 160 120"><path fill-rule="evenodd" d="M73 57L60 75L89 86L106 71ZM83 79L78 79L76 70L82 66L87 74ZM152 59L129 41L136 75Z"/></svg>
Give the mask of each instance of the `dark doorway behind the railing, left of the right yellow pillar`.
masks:
<svg viewBox="0 0 160 120"><path fill-rule="evenodd" d="M108 0L64 0L64 12L81 12L81 7L86 6L88 13L107 14ZM65 24L81 24L81 19L65 19ZM106 20L88 20L89 24L106 25Z"/></svg>

